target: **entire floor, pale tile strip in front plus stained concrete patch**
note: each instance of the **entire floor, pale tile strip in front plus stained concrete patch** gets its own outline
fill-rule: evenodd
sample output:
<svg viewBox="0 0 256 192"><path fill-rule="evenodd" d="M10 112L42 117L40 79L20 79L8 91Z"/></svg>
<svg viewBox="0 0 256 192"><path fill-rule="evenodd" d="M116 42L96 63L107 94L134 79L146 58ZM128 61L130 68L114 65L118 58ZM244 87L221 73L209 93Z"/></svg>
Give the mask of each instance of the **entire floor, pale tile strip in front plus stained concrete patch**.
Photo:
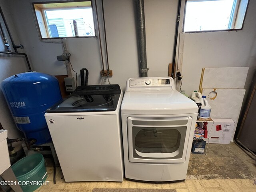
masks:
<svg viewBox="0 0 256 192"><path fill-rule="evenodd" d="M94 188L156 188L176 189L177 192L256 192L256 166L244 151L231 142L210 144L207 155L191 154L187 179L170 184L123 182L65 182L57 168L56 184L53 168L48 167L48 185L37 192L92 192Z"/></svg>

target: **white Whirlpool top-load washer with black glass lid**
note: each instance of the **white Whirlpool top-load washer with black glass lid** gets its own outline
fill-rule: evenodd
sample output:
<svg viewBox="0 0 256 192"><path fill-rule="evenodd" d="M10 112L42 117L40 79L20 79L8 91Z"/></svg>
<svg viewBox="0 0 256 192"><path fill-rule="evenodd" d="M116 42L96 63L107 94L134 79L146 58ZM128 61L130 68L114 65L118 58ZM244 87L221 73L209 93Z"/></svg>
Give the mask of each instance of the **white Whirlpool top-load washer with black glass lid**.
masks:
<svg viewBox="0 0 256 192"><path fill-rule="evenodd" d="M78 86L45 118L66 182L123 181L119 85Z"/></svg>

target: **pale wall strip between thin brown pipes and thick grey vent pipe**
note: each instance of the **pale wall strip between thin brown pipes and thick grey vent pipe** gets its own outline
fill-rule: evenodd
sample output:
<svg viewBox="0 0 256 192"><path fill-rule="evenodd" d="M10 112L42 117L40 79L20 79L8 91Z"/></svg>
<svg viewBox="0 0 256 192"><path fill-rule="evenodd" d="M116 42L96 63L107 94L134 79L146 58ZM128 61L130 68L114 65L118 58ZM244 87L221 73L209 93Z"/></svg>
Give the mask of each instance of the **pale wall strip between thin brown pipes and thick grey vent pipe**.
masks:
<svg viewBox="0 0 256 192"><path fill-rule="evenodd" d="M134 0L104 0L111 83L125 89L126 80L139 77ZM98 8L100 11L101 8ZM103 34L103 31L101 32ZM93 75L98 76L98 72Z"/></svg>

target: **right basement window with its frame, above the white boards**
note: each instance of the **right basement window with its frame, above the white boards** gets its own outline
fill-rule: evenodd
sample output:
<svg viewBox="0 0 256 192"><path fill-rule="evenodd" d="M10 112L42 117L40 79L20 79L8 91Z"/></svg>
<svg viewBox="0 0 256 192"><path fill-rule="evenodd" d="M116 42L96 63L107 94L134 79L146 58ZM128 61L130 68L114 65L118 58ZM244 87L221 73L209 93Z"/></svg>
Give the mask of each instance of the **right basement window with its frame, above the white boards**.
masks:
<svg viewBox="0 0 256 192"><path fill-rule="evenodd" d="M248 0L187 0L184 32L242 29Z"/></svg>

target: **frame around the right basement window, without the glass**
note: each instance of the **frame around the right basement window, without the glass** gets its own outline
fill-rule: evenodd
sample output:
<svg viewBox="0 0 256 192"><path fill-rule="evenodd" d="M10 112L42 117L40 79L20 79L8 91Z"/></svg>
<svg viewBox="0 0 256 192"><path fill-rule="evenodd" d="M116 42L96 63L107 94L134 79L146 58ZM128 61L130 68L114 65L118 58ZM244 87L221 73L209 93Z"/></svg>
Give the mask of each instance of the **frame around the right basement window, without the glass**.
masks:
<svg viewBox="0 0 256 192"><path fill-rule="evenodd" d="M185 6L184 6L184 17L183 17L183 24L182 24L182 32L184 33L204 33L204 32L220 32L220 31L240 31L240 30L243 30L244 28L244 20L246 18L246 14L247 14L247 10L248 10L248 5L249 5L249 2L250 0L248 0L247 2L247 5L246 5L246 10L245 10L245 13L244 13L244 18L243 18L243 22L242 22L242 26L241 28L234 28L234 26L236 25L236 19L237 19L237 14L238 14L238 11L239 11L239 8L240 8L240 4L243 0L236 0L236 5L235 7L232 8L232 22L230 22L231 26L233 28L230 28L230 29L220 29L220 30L203 30L203 31L184 31L184 26L185 26L185 18L186 18L186 6L187 6L187 2L198 2L198 1L211 1L211 0L185 0Z"/></svg>

